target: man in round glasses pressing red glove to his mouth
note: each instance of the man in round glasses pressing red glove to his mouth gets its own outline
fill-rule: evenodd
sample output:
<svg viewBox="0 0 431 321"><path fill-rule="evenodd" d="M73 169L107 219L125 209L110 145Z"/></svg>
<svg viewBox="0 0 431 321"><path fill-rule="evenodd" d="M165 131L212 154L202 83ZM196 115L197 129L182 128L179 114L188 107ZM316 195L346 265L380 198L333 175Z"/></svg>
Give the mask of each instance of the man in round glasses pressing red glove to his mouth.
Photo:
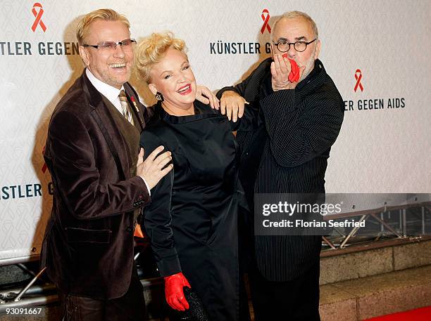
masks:
<svg viewBox="0 0 431 321"><path fill-rule="evenodd" d="M256 193L325 192L327 159L344 117L342 97L318 60L316 23L306 13L288 12L275 22L271 38L273 57L218 92L222 109L259 102L261 126L237 132L240 180L251 211ZM292 77L291 70L299 74ZM320 320L320 235L256 235L253 218L243 217L240 234L251 237L240 244L254 249L248 272L255 320Z"/></svg>

